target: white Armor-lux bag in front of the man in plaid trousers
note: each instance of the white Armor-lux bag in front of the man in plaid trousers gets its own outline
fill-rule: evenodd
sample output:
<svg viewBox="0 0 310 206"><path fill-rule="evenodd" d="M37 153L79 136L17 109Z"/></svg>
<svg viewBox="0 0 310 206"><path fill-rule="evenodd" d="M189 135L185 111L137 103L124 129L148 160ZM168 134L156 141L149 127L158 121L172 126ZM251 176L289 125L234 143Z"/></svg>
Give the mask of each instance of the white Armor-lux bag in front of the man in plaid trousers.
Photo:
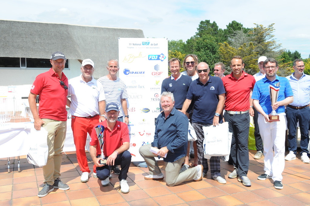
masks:
<svg viewBox="0 0 310 206"><path fill-rule="evenodd" d="M230 154L231 135L228 131L228 122L224 122L214 127L202 127L204 140L204 157L210 159L212 156L226 156ZM229 135L229 133L231 133Z"/></svg>

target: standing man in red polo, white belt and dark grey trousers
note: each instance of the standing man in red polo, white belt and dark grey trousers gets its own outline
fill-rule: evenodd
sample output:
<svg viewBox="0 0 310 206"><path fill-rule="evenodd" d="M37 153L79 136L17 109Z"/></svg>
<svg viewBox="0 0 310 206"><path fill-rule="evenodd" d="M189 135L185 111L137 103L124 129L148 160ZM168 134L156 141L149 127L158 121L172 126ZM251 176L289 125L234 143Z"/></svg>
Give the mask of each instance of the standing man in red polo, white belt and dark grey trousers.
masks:
<svg viewBox="0 0 310 206"><path fill-rule="evenodd" d="M255 78L243 71L244 63L241 56L232 57L230 67L232 73L222 78L226 91L224 118L229 123L229 132L232 132L230 156L235 168L228 177L239 176L238 181L250 187L251 182L246 175L249 170L249 114L254 116L253 100L250 98Z"/></svg>

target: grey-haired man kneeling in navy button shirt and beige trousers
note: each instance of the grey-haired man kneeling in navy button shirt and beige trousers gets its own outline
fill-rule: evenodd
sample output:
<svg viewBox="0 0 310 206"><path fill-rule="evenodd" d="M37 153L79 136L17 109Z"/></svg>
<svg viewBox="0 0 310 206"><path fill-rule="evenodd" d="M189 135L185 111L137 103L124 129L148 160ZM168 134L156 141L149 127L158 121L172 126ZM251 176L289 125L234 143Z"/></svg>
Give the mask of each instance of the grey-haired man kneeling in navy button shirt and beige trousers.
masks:
<svg viewBox="0 0 310 206"><path fill-rule="evenodd" d="M150 152L151 145L141 146L140 155L144 158L150 172L146 180L162 180L164 175L154 157L164 157L166 168L166 184L179 185L184 181L201 181L203 166L180 172L187 152L188 119L182 112L175 109L174 97L171 92L162 92L160 96L162 113L158 115L155 124L155 136L152 146L159 149L157 154Z"/></svg>

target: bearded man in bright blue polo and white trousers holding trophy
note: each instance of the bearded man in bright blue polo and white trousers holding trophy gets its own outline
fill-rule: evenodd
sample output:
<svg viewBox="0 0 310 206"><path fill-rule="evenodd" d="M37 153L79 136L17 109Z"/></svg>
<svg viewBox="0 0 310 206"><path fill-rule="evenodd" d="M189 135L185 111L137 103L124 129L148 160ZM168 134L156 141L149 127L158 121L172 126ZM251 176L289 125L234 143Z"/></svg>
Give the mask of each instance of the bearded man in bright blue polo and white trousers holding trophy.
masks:
<svg viewBox="0 0 310 206"><path fill-rule="evenodd" d="M259 132L263 139L264 170L257 179L266 180L272 178L276 189L283 189L282 172L284 170L285 131L286 116L285 105L293 102L293 92L290 82L277 76L278 62L273 58L267 58L263 63L266 76L255 83L252 99L256 110L259 112ZM280 91L277 102L271 105L269 96L269 84L280 83ZM276 110L280 121L270 122L268 114ZM273 150L274 154L273 154Z"/></svg>

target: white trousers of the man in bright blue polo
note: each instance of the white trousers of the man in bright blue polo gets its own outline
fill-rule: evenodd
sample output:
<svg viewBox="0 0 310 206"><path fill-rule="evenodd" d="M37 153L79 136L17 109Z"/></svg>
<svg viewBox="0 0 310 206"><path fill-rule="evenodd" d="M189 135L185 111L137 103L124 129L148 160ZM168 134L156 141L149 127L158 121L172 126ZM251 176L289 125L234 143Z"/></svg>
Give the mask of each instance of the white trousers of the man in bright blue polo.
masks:
<svg viewBox="0 0 310 206"><path fill-rule="evenodd" d="M280 121L266 122L263 115L258 116L259 133L263 140L265 174L273 181L282 181L285 160L285 131L287 129L285 113L279 114ZM274 154L273 154L273 150Z"/></svg>

